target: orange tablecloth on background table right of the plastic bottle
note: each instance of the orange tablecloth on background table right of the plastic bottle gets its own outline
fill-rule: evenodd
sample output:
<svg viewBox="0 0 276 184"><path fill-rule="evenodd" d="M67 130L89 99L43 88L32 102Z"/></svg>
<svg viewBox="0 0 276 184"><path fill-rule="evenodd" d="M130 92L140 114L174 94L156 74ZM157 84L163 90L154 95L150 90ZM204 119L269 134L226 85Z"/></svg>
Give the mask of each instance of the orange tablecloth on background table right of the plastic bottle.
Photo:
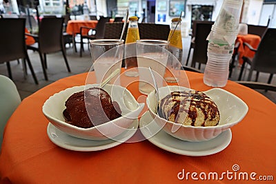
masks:
<svg viewBox="0 0 276 184"><path fill-rule="evenodd" d="M238 34L237 35L237 40L241 45L239 46L239 63L242 64L243 60L242 57L254 57L255 52L249 50L247 47L244 48L242 45L244 42L249 43L253 48L257 48L259 45L259 42L261 41L261 37L256 34Z"/></svg>

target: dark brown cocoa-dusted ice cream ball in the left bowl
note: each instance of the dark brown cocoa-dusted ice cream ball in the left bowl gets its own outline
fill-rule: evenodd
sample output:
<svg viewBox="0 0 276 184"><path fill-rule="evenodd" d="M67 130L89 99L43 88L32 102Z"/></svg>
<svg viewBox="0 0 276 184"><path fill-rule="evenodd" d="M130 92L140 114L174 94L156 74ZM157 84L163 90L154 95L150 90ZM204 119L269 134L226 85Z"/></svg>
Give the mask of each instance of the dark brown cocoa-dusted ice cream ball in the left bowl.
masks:
<svg viewBox="0 0 276 184"><path fill-rule="evenodd" d="M112 102L108 92L89 88L72 94L66 101L63 116L66 123L77 127L94 127L121 116L117 102Z"/></svg>

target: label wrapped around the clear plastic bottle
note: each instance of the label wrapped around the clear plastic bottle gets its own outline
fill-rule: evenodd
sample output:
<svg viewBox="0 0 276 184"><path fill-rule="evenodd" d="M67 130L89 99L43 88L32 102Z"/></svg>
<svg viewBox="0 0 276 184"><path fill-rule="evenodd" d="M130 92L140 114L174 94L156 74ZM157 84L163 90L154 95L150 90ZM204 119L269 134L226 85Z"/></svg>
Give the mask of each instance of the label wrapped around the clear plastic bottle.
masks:
<svg viewBox="0 0 276 184"><path fill-rule="evenodd" d="M208 52L213 52L216 54L233 54L234 50L234 44L229 45L228 43L225 42L216 42L209 40L208 43Z"/></svg>

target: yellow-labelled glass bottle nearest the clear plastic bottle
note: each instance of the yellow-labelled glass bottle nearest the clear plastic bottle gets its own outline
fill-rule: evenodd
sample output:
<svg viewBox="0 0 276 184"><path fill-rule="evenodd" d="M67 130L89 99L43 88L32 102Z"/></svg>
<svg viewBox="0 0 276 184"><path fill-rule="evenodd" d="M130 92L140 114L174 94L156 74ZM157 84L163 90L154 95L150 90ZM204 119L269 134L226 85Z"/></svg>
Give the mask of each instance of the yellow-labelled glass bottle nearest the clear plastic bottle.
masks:
<svg viewBox="0 0 276 184"><path fill-rule="evenodd" d="M177 83L179 81L179 75L181 70L181 60L182 60L182 37L181 37L181 19L172 19L170 34L168 35L168 41L170 45L168 46L168 51L172 53L173 56L168 57L168 62L166 66L166 73L164 79L168 83Z"/></svg>

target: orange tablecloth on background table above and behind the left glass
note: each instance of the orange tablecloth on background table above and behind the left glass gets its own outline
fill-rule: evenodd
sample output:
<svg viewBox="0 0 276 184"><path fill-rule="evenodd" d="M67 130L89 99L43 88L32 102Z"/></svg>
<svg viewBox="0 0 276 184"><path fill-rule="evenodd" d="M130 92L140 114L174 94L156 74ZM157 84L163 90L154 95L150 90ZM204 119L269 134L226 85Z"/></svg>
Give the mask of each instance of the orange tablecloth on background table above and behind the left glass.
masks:
<svg viewBox="0 0 276 184"><path fill-rule="evenodd" d="M81 30L81 26L87 26L90 28L96 28L98 21L90 20L90 21L82 21L82 20L70 20L67 23L66 32L68 34L77 34ZM86 34L87 32L83 32Z"/></svg>

